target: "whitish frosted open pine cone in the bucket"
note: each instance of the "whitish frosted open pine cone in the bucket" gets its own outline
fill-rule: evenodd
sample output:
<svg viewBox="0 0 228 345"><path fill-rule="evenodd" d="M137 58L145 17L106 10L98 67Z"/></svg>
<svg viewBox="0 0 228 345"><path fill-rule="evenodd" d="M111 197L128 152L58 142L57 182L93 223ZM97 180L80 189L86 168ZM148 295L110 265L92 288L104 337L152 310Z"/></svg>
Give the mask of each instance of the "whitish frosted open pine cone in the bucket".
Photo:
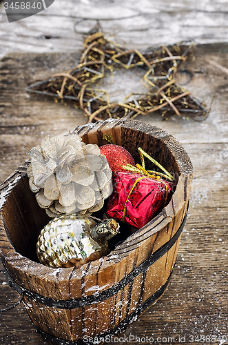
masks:
<svg viewBox="0 0 228 345"><path fill-rule="evenodd" d="M92 213L112 193L112 170L97 145L74 133L46 137L30 150L30 189L50 217Z"/></svg>

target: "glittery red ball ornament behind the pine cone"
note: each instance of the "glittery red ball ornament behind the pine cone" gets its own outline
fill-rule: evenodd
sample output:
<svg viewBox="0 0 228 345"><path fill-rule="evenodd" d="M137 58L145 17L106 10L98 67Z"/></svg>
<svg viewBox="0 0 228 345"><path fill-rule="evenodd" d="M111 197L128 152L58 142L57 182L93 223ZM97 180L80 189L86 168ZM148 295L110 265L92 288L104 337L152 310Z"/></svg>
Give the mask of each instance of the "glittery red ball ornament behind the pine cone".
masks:
<svg viewBox="0 0 228 345"><path fill-rule="evenodd" d="M101 155L107 158L107 162L110 165L112 172L126 171L122 168L126 164L132 164L135 166L132 155L122 146L107 144L100 147Z"/></svg>

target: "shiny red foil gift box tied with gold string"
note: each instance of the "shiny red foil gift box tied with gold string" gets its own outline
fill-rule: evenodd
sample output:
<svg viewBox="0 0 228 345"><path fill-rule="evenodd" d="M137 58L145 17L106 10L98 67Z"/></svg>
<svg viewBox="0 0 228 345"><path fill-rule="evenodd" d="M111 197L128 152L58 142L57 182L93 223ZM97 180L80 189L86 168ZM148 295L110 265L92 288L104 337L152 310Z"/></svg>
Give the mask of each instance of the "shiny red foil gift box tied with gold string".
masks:
<svg viewBox="0 0 228 345"><path fill-rule="evenodd" d="M132 172L116 172L107 217L141 228L169 202L173 183Z"/></svg>

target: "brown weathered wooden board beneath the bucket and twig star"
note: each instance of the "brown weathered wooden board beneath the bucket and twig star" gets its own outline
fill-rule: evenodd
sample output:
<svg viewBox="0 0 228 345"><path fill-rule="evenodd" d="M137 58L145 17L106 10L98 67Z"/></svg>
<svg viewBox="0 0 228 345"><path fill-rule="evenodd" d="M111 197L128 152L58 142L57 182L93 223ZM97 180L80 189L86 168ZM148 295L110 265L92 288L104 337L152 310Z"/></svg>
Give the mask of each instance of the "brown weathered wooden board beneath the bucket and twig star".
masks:
<svg viewBox="0 0 228 345"><path fill-rule="evenodd" d="M25 83L32 79L32 73L45 77L50 68L58 70L60 59L68 68L66 55L48 56L10 55L1 63L8 63L7 74L1 73L1 181L28 157L26 152L42 137L86 122L81 115L74 117L76 110L70 106L26 97ZM73 55L68 57L71 67ZM34 61L46 59L49 67L42 62L35 67ZM208 59L216 61L217 67ZM187 66L194 77L185 87L207 103L215 95L206 121L176 118L163 122L157 115L143 117L143 121L163 128L183 143L193 162L195 178L171 283L160 301L127 328L123 333L126 337L174 336L178 340L181 335L189 343L190 335L227 335L227 74L218 68L226 67L227 59L226 45L199 46L196 61ZM2 275L0 279L6 282ZM5 284L0 284L0 289L1 308L17 302L14 290ZM47 344L34 332L23 306L1 314L0 325L1 344Z"/></svg>

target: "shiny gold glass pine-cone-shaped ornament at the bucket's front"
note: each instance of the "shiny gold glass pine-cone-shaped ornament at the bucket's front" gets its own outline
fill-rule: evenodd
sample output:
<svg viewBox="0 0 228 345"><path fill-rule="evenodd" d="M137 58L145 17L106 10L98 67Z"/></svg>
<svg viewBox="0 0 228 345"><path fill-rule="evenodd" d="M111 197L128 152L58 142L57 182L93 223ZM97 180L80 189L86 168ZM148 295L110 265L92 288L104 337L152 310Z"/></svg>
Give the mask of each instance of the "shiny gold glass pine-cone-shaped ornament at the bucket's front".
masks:
<svg viewBox="0 0 228 345"><path fill-rule="evenodd" d="M41 264L53 268L81 266L107 255L107 240L118 228L114 219L96 222L86 215L61 215L41 230L37 257Z"/></svg>

